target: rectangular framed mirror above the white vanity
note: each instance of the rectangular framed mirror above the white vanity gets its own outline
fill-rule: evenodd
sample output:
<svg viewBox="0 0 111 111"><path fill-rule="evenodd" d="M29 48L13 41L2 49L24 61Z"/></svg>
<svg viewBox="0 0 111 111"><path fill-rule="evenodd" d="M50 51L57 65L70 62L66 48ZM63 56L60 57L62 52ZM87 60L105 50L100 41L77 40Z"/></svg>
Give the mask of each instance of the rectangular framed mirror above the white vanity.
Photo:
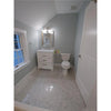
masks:
<svg viewBox="0 0 111 111"><path fill-rule="evenodd" d="M50 49L54 47L54 31L42 31L42 48Z"/></svg>

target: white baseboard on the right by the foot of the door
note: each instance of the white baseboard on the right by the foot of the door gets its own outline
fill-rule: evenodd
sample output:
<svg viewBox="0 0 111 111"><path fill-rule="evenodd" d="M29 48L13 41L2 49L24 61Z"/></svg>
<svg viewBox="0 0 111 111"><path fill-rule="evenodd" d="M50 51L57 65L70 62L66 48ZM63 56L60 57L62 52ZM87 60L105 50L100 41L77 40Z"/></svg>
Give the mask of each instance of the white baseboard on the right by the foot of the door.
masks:
<svg viewBox="0 0 111 111"><path fill-rule="evenodd" d="M85 89L85 87L83 85L83 82L81 81L81 79L79 77L75 78L75 82L77 82L77 85L82 94L84 103L88 104L88 98L89 98L88 90Z"/></svg>

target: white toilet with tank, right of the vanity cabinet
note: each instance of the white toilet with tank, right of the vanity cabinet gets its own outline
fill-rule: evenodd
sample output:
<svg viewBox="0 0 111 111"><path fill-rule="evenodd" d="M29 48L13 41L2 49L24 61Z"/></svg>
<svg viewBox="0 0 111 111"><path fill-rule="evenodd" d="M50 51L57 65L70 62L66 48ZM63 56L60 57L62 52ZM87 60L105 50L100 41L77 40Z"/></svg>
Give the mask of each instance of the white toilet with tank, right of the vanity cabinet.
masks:
<svg viewBox="0 0 111 111"><path fill-rule="evenodd" d="M61 58L63 60L61 63L61 67L63 69L63 75L67 75L68 69L70 69L70 62L69 62L70 53L61 53Z"/></svg>

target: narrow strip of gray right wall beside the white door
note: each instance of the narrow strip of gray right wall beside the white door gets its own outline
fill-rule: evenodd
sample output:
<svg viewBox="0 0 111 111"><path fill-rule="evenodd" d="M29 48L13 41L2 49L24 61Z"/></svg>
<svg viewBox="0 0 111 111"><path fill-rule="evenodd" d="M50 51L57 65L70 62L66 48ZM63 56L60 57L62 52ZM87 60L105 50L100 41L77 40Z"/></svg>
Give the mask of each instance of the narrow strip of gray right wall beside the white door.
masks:
<svg viewBox="0 0 111 111"><path fill-rule="evenodd" d="M78 56L80 53L80 44L82 38L82 30L83 30L83 19L84 19L84 11L89 2L84 2L83 7L81 8L78 14L78 24L77 24L77 36L74 40L74 70L77 72L78 69Z"/></svg>

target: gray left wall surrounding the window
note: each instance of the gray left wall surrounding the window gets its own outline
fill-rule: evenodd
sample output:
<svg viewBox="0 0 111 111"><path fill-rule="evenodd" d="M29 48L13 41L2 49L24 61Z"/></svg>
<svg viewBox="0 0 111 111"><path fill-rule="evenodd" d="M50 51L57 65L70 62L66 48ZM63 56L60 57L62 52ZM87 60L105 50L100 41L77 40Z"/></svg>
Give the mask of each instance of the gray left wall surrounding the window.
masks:
<svg viewBox="0 0 111 111"><path fill-rule="evenodd" d="M40 47L39 44L40 34L33 28L18 20L14 21L14 28L19 28L27 31L27 40L28 40L28 49L30 58L30 63L24 69L14 73L14 84L17 84L28 72L30 72L34 67L37 67L36 52L37 49L39 49Z"/></svg>

